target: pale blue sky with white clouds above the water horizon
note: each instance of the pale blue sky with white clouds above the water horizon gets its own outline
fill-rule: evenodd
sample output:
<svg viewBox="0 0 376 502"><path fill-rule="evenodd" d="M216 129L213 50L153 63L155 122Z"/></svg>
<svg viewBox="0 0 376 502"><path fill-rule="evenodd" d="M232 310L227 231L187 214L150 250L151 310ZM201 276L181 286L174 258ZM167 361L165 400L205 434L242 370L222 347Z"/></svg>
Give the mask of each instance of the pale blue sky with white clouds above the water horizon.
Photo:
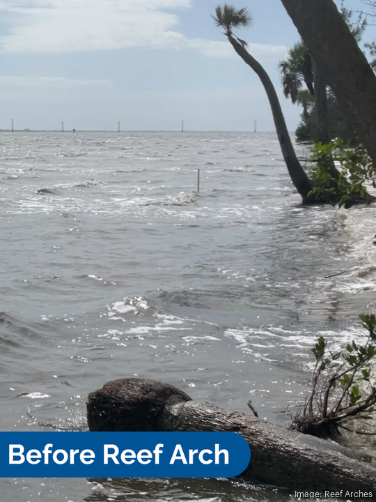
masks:
<svg viewBox="0 0 376 502"><path fill-rule="evenodd" d="M0 128L274 130L262 84L211 15L220 0L0 0ZM232 0L288 128L277 65L299 35L281 0ZM339 5L340 1L336 0ZM345 0L354 11L361 0ZM365 40L376 39L368 26Z"/></svg>

